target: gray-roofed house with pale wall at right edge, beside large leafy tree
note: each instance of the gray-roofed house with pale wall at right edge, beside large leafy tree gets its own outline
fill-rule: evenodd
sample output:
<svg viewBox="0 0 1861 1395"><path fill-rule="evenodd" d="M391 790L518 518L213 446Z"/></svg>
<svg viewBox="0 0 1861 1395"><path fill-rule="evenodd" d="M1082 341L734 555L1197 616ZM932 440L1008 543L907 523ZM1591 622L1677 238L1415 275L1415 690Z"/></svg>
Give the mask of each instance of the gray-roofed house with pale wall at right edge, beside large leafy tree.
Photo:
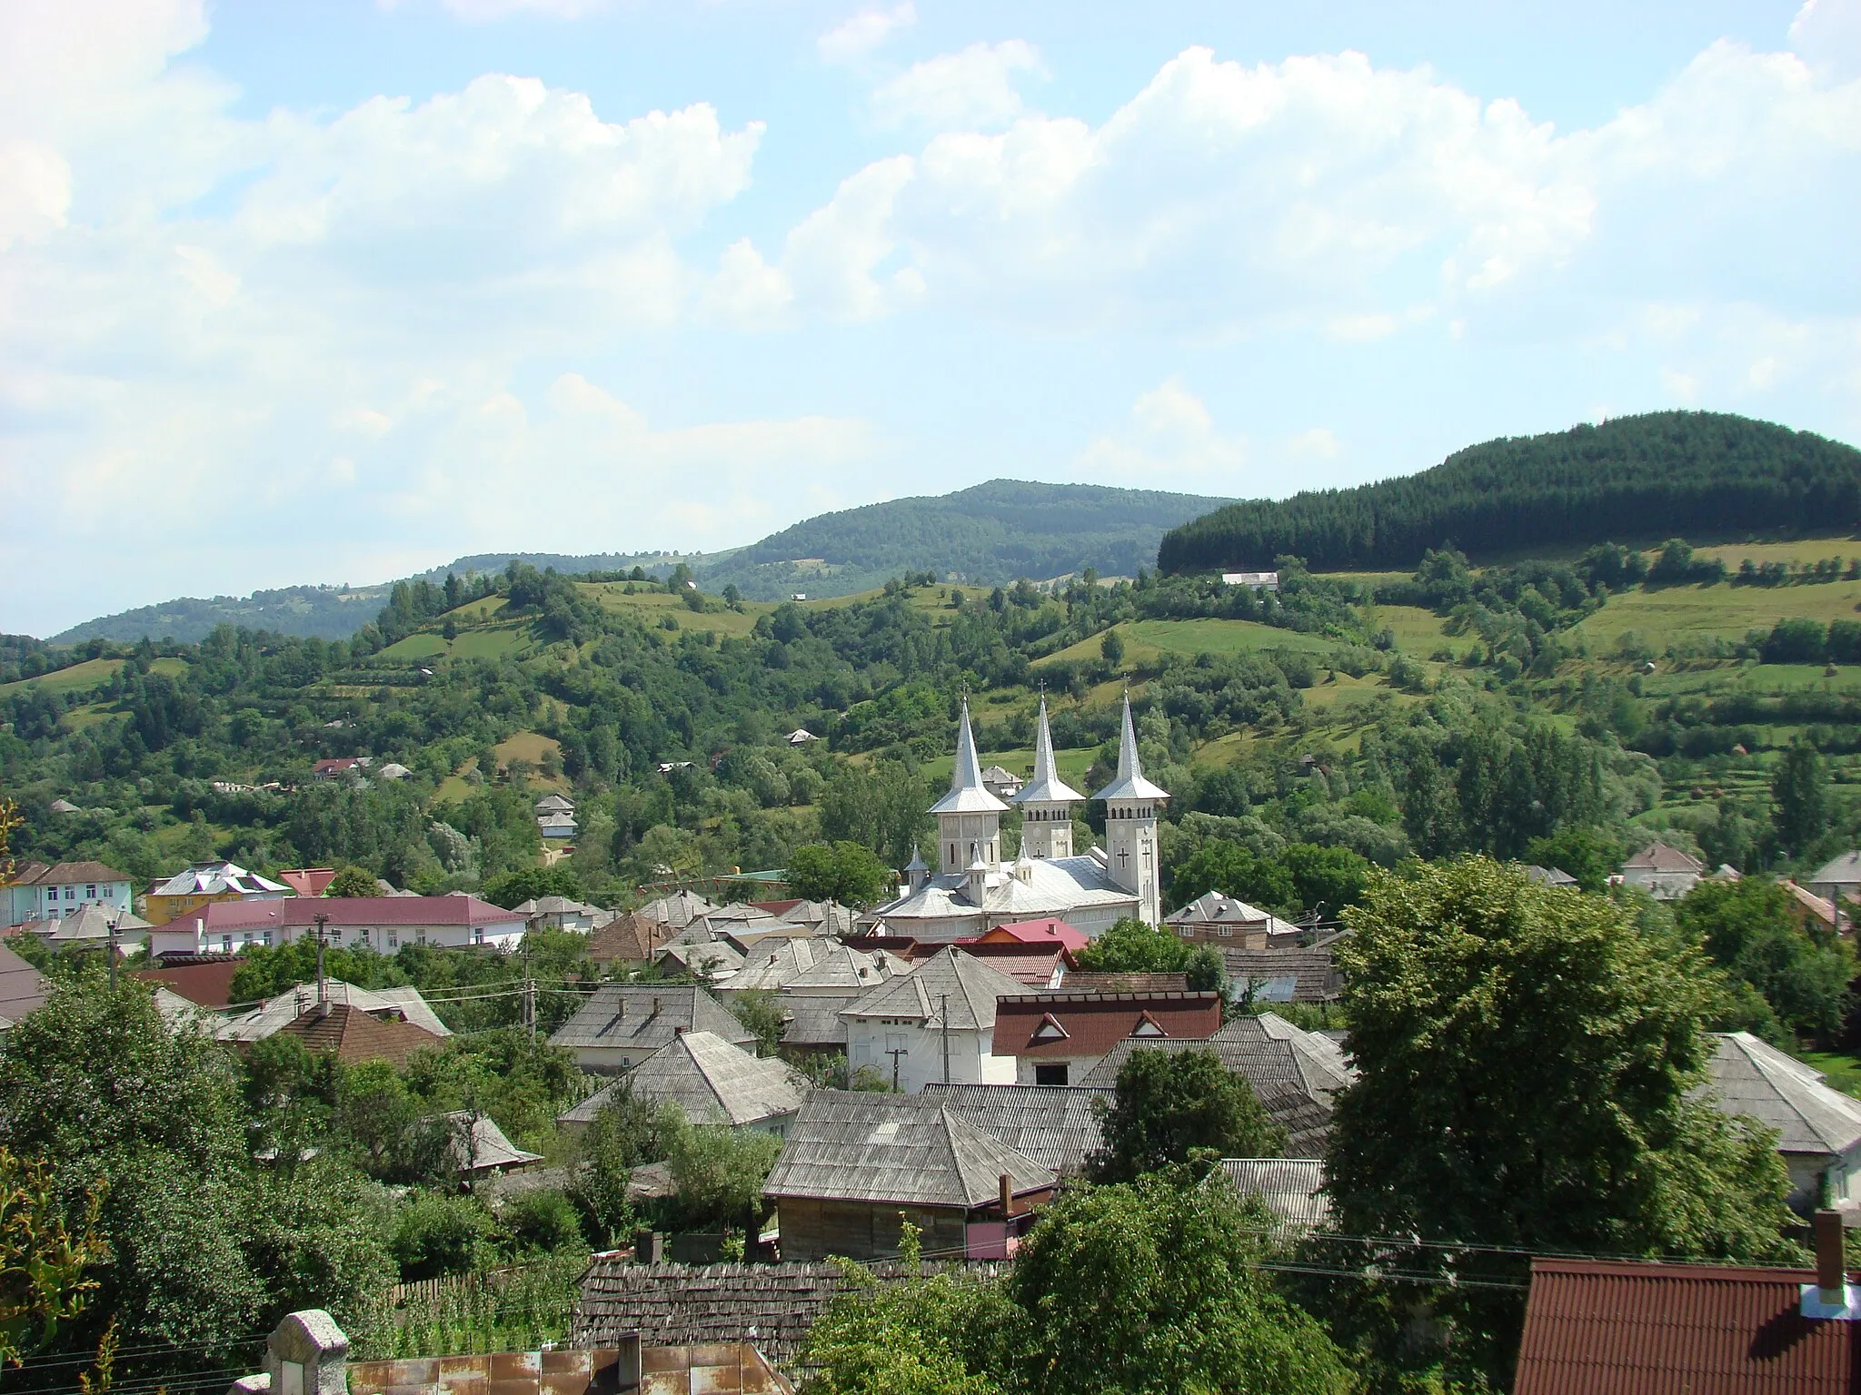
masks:
<svg viewBox="0 0 1861 1395"><path fill-rule="evenodd" d="M1824 1084L1822 1071L1749 1032L1714 1032L1707 1083L1695 1097L1777 1131L1790 1170L1790 1207L1861 1203L1861 1099Z"/></svg>

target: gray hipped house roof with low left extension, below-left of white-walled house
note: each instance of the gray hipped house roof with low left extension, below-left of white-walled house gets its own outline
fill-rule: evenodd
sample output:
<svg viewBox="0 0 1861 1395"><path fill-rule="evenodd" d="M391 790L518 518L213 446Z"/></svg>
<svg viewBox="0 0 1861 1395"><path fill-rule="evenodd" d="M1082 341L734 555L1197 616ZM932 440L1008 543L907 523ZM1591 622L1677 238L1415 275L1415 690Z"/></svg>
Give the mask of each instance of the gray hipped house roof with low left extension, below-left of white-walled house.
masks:
<svg viewBox="0 0 1861 1395"><path fill-rule="evenodd" d="M692 1123L728 1123L778 1138L808 1094L808 1079L782 1060L761 1060L716 1032L679 1032L625 1081L588 1096L558 1114L556 1123L569 1131L588 1127L622 1084L635 1099L676 1103Z"/></svg>

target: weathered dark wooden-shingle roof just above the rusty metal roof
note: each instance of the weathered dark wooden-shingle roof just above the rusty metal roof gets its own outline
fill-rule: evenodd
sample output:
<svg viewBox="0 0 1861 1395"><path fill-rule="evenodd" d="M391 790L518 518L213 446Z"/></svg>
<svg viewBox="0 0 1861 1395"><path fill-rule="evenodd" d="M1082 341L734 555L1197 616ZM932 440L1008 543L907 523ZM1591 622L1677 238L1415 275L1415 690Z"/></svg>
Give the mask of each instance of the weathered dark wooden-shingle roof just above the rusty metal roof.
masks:
<svg viewBox="0 0 1861 1395"><path fill-rule="evenodd" d="M864 1265L880 1283L938 1272L990 1280L1005 1265ZM582 1274L581 1311L571 1341L612 1345L638 1332L644 1347L748 1341L776 1363L789 1363L821 1309L847 1283L847 1270L811 1265L633 1265L596 1259Z"/></svg>

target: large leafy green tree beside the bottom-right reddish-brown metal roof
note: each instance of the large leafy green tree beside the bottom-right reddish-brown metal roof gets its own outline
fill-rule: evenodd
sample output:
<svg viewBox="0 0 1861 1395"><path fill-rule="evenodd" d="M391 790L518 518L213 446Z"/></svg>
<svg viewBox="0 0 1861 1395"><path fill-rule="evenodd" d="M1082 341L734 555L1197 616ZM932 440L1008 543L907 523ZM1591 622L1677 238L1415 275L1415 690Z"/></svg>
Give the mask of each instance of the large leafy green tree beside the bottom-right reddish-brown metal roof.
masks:
<svg viewBox="0 0 1861 1395"><path fill-rule="evenodd" d="M1373 872L1338 945L1359 1079L1338 1101L1340 1229L1541 1252L1790 1256L1774 1136L1690 1097L1718 986L1697 941L1470 857ZM1493 1256L1411 1250L1444 1278ZM1517 1282L1517 1274L1509 1276ZM1502 1384L1520 1304L1433 1289L1446 1360ZM1396 1350L1394 1328L1383 1339Z"/></svg>

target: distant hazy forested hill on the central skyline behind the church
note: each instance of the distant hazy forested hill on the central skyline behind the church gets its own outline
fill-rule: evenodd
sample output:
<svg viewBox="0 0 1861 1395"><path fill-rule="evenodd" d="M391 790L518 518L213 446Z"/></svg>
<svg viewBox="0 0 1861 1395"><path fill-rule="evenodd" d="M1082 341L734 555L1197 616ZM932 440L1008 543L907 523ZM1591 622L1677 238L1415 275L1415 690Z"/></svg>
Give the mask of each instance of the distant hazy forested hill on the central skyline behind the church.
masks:
<svg viewBox="0 0 1861 1395"><path fill-rule="evenodd" d="M791 590L850 595L910 571L988 584L1087 567L1128 577L1152 564L1169 528L1221 502L1150 489L990 480L955 495L823 513L694 571L711 590L735 584L763 601Z"/></svg>

